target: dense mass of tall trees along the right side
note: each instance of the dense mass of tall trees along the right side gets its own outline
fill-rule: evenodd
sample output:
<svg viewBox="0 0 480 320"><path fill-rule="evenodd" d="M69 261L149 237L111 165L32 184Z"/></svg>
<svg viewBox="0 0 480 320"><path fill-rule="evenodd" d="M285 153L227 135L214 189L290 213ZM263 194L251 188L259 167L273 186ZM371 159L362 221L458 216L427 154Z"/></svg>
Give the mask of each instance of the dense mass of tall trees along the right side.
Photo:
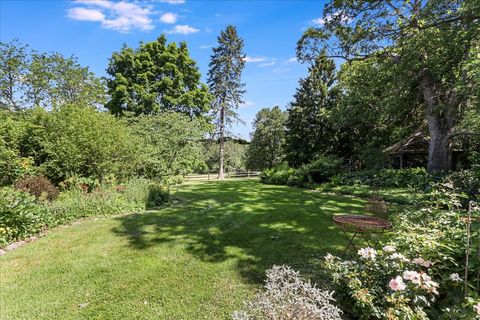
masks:
<svg viewBox="0 0 480 320"><path fill-rule="evenodd" d="M422 131L430 173L453 169L453 150L458 168L478 164L478 12L475 1L327 4L325 23L298 41L308 75L287 106L280 158L300 167L335 155L349 170L379 169L385 148Z"/></svg>

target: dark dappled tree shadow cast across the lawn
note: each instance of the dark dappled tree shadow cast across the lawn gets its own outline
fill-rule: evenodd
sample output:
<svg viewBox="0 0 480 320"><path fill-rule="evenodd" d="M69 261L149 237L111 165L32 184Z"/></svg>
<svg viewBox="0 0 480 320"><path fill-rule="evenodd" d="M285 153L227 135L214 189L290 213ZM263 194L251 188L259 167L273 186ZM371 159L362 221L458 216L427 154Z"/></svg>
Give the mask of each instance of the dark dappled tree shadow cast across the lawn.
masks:
<svg viewBox="0 0 480 320"><path fill-rule="evenodd" d="M309 273L312 260L339 253L346 239L334 214L362 214L364 200L237 180L186 185L179 202L117 218L113 231L138 250L182 244L212 263L236 259L246 281L261 282L273 264Z"/></svg>

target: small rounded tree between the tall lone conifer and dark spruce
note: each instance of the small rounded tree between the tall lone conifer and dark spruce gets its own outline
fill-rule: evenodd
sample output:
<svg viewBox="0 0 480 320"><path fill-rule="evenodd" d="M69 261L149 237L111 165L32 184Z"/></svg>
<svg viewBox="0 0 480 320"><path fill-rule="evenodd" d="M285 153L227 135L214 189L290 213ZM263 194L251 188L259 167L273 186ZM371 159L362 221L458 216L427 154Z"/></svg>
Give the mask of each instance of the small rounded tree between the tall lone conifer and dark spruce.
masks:
<svg viewBox="0 0 480 320"><path fill-rule="evenodd" d="M252 142L247 151L247 167L264 170L284 159L286 112L279 107L263 108L255 115Z"/></svg>

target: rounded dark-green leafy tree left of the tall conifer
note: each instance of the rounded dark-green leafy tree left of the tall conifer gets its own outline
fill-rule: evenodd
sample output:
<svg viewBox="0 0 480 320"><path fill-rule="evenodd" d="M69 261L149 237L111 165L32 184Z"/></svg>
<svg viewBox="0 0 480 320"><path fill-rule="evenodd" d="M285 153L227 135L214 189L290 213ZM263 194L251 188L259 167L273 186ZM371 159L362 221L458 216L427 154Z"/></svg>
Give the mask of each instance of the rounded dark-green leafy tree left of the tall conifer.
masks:
<svg viewBox="0 0 480 320"><path fill-rule="evenodd" d="M208 88L185 42L167 45L162 35L137 49L124 45L112 54L107 73L106 108L117 116L175 111L203 117L209 109Z"/></svg>

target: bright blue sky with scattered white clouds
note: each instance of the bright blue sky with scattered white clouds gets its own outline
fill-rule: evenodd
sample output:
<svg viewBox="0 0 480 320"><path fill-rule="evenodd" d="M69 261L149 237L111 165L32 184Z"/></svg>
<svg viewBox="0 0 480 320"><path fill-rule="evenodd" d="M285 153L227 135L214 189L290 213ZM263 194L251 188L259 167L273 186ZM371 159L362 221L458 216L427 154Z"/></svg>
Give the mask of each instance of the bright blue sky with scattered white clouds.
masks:
<svg viewBox="0 0 480 320"><path fill-rule="evenodd" d="M295 59L303 31L322 24L324 1L200 0L0 0L0 41L18 39L41 52L75 55L97 76L112 53L126 43L186 41L206 81L212 46L229 24L244 39L245 103L237 110L245 124L231 132L249 140L255 114L262 108L285 109L307 67Z"/></svg>

